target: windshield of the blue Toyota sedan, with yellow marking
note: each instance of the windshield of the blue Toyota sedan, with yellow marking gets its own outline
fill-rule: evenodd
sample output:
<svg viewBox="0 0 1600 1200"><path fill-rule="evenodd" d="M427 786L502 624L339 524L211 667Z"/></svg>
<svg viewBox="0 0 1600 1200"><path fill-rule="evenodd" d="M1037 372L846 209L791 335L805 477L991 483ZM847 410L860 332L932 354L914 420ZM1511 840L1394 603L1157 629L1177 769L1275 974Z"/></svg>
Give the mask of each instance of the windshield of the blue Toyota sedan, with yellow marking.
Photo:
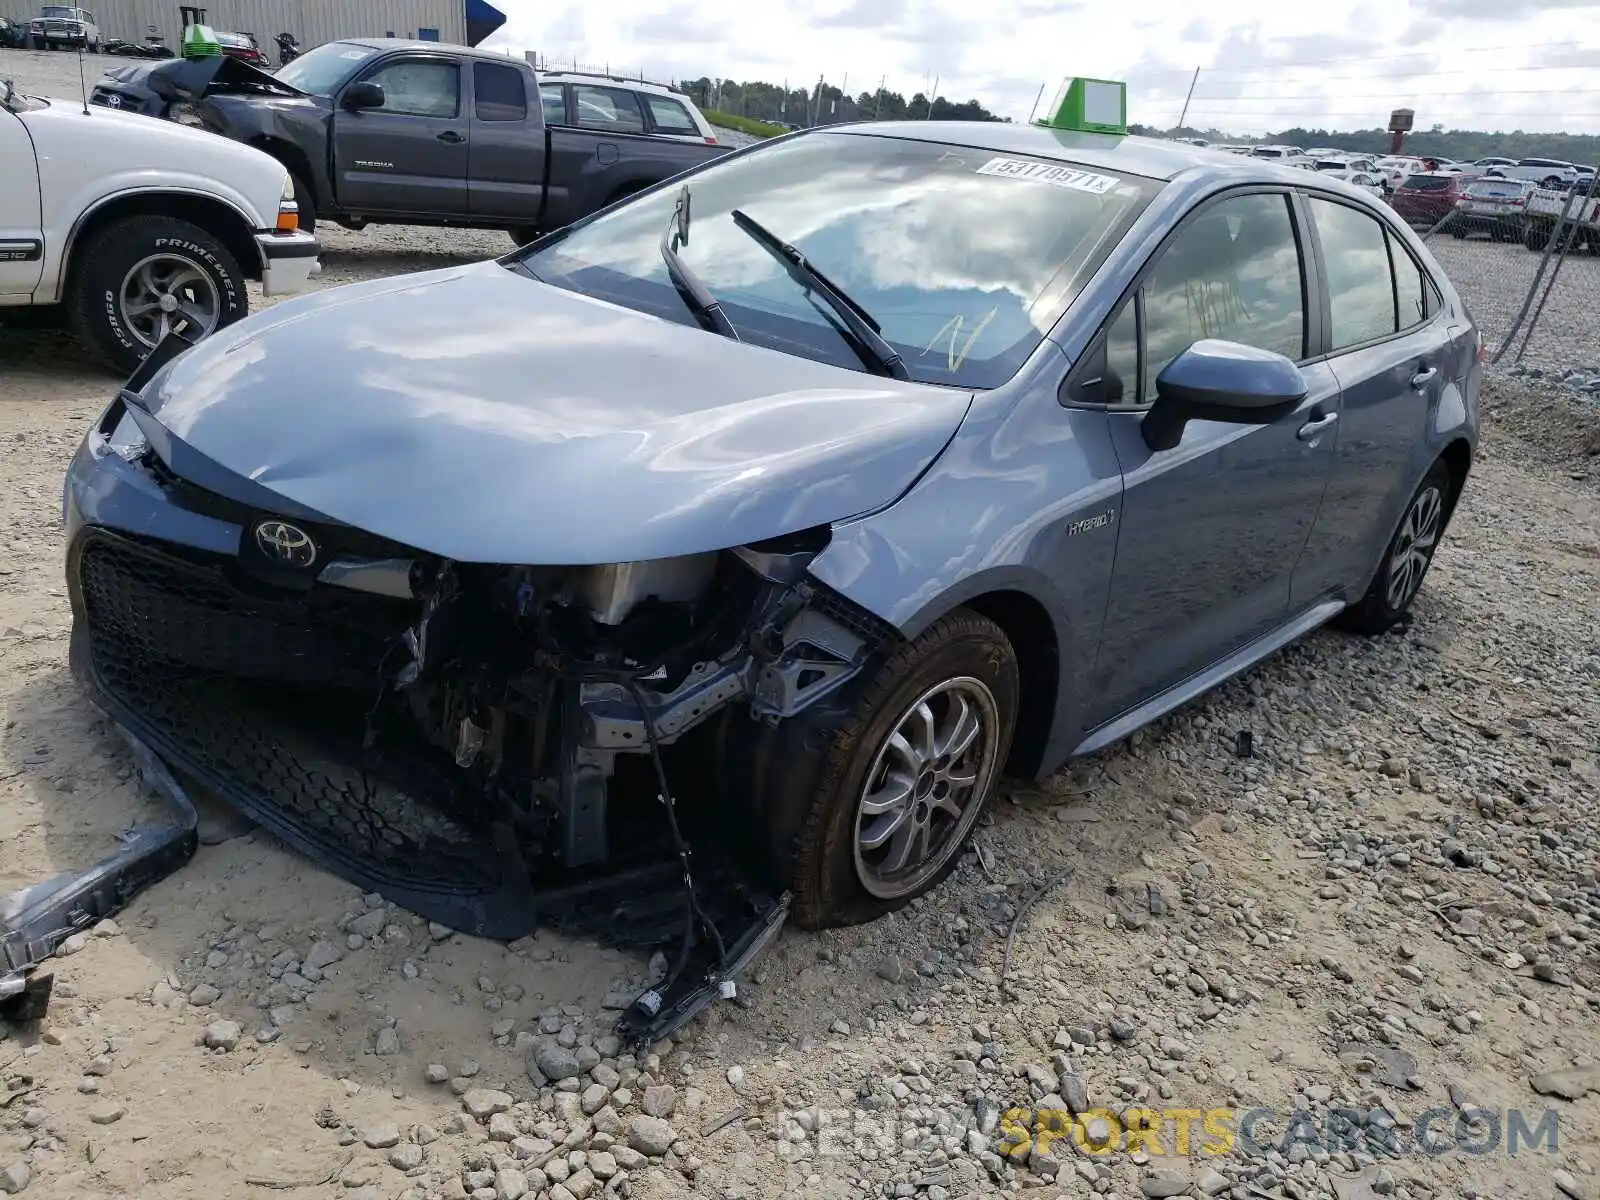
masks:
<svg viewBox="0 0 1600 1200"><path fill-rule="evenodd" d="M790 243L878 323L910 378L1010 379L1160 189L965 146L810 133L685 178L686 266L757 346L861 370L829 307L741 229ZM538 280L698 328L661 253L680 187L515 256Z"/></svg>

